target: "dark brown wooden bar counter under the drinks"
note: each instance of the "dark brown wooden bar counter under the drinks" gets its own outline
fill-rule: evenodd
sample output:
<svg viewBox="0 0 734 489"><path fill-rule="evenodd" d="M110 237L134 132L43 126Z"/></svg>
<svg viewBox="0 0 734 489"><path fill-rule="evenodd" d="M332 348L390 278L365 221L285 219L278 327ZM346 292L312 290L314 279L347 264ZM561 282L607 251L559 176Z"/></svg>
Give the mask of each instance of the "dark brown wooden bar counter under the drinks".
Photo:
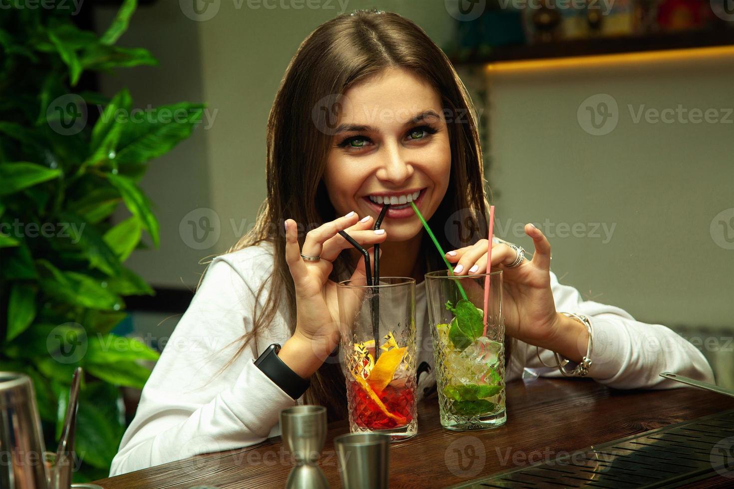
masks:
<svg viewBox="0 0 734 489"><path fill-rule="evenodd" d="M571 454L675 422L734 408L734 398L700 389L619 391L593 380L516 381L507 385L508 418L493 430L454 432L440 426L436 397L418 405L418 435L390 445L390 488L433 488ZM320 465L332 488L341 488L335 435L330 424ZM284 488L292 462L280 437L244 449L197 455L161 466L101 479L105 489ZM734 467L731 474L734 477ZM717 475L695 487L731 487Z"/></svg>

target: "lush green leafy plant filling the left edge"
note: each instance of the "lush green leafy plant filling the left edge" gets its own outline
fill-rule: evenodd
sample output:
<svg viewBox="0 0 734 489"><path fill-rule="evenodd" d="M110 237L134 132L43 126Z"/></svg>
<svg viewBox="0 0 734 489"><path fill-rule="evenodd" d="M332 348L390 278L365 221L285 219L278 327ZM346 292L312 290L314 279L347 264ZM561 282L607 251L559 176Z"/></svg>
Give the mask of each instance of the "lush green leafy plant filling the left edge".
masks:
<svg viewBox="0 0 734 489"><path fill-rule="evenodd" d="M73 369L84 368L74 474L84 482L109 474L126 427L120 387L142 388L142 363L159 356L111 333L126 296L153 294L123 265L143 232L159 244L138 183L149 161L192 133L203 106L129 117L127 90L107 99L80 88L89 73L156 64L145 49L115 45L136 0L122 1L101 35L79 29L60 3L9 5L0 16L0 370L32 378L53 450ZM120 205L131 216L112 224Z"/></svg>

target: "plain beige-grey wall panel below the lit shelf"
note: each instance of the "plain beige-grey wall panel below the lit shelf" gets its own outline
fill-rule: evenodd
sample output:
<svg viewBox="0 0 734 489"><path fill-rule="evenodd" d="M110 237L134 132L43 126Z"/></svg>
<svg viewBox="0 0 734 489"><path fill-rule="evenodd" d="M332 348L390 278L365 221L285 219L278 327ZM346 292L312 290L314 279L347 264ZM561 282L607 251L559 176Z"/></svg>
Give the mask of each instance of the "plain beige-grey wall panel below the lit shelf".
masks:
<svg viewBox="0 0 734 489"><path fill-rule="evenodd" d="M586 299L646 322L734 328L734 249L719 245L718 223L714 235L710 229L722 210L734 216L734 51L642 57L488 71L497 219L555 223L542 227L554 235L552 269ZM591 127L584 109L578 117L595 94L618 106L606 135L584 130ZM628 107L636 115L642 106L679 104L716 109L728 122L693 123L688 115L635 122ZM559 223L603 223L614 232L596 238L579 225L581 237L561 237L569 231ZM527 237L506 239L532 249Z"/></svg>

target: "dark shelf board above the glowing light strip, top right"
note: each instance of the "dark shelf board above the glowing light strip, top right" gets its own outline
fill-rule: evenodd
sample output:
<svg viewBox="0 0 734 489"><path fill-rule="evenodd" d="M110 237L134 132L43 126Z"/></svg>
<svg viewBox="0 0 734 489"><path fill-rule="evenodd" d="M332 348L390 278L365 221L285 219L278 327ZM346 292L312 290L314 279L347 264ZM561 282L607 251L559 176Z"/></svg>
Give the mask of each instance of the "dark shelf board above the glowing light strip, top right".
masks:
<svg viewBox="0 0 734 489"><path fill-rule="evenodd" d="M558 40L532 45L504 45L490 48L490 53L476 52L451 56L455 65L483 65L494 62L530 59L553 59L571 56L667 51L672 49L708 48L734 45L734 29L666 32L620 37L592 37Z"/></svg>

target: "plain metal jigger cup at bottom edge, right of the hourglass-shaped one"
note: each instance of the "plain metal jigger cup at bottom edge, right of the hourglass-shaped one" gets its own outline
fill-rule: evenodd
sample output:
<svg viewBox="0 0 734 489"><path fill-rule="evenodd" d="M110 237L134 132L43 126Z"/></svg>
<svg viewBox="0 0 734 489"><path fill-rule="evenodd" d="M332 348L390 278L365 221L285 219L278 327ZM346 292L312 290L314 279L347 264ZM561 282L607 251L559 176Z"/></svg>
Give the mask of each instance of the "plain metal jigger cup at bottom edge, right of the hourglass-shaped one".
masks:
<svg viewBox="0 0 734 489"><path fill-rule="evenodd" d="M388 487L390 435L347 433L334 438L339 476L346 489Z"/></svg>

